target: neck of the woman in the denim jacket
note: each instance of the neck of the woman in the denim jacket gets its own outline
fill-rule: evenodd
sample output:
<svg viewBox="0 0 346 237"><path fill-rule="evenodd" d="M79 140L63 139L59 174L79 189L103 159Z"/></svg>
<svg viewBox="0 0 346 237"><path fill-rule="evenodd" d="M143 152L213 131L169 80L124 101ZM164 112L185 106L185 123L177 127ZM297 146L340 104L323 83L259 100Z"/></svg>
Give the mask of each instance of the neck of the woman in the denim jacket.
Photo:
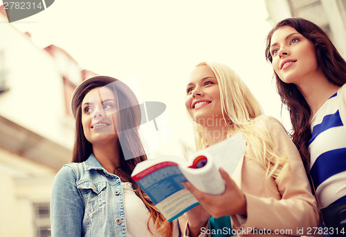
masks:
<svg viewBox="0 0 346 237"><path fill-rule="evenodd" d="M121 164L120 149L115 149L115 147L116 145L93 144L93 155L109 173L114 173Z"/></svg>

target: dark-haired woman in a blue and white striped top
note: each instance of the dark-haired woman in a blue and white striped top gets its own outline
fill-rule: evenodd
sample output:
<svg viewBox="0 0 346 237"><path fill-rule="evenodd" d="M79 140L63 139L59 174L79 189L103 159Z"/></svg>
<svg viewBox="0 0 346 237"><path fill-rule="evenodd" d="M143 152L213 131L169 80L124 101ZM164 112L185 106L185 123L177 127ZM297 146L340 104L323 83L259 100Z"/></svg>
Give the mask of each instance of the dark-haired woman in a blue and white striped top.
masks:
<svg viewBox="0 0 346 237"><path fill-rule="evenodd" d="M301 18L277 23L266 38L265 54L320 207L346 213L345 59L319 26ZM336 228L339 220L327 214L325 222Z"/></svg>

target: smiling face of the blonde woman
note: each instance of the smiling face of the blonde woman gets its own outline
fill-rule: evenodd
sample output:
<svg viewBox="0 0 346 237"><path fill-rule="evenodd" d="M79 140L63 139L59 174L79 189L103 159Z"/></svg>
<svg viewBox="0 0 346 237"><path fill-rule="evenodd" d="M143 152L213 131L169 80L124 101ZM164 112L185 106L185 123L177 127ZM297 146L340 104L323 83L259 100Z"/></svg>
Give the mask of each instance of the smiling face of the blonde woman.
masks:
<svg viewBox="0 0 346 237"><path fill-rule="evenodd" d="M222 118L219 84L209 66L197 66L186 88L185 106L192 119L203 126ZM211 122L211 121L210 121Z"/></svg>

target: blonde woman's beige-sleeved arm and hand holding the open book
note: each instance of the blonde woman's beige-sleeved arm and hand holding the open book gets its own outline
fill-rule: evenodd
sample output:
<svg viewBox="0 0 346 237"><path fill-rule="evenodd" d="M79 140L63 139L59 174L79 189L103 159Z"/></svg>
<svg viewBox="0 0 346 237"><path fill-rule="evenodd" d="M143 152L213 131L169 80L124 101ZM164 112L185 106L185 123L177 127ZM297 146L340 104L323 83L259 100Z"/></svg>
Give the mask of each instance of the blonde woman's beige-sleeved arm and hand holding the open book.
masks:
<svg viewBox="0 0 346 237"><path fill-rule="evenodd" d="M272 187L275 189L277 187L279 198L274 195L266 197L253 195L251 188L246 192L242 191L246 189L243 187L246 186L246 183L257 185L264 182L264 171L260 165L257 167L244 165L242 190L222 169L220 172L226 182L224 193L209 195L194 189L191 184L189 190L215 218L231 216L235 229L291 229L293 235L298 235L295 232L297 227L304 228L304 231L307 231L307 227L318 227L319 216L316 200L311 194L311 188L298 150L289 139L284 127L273 118L266 118L265 120L267 129L271 132L272 140L277 145L278 152L288 158L291 169L291 174L282 182L272 181ZM262 173L257 178L253 173L258 170ZM263 194L271 191L266 188L261 192ZM241 218L239 218L240 216Z"/></svg>

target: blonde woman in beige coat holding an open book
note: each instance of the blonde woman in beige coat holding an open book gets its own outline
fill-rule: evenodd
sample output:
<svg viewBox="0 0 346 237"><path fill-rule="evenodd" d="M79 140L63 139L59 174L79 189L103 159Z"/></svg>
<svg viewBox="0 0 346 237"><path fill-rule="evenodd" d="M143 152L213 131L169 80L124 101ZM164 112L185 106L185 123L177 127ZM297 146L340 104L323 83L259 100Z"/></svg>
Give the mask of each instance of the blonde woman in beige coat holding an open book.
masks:
<svg viewBox="0 0 346 237"><path fill-rule="evenodd" d="M230 176L220 169L226 191L209 195L185 182L199 200L186 215L187 236L208 234L210 216L230 216L238 236L313 234L319 216L298 150L282 124L264 116L248 87L228 66L201 63L186 89L197 150L242 133L244 160ZM226 159L226 158L225 158Z"/></svg>

